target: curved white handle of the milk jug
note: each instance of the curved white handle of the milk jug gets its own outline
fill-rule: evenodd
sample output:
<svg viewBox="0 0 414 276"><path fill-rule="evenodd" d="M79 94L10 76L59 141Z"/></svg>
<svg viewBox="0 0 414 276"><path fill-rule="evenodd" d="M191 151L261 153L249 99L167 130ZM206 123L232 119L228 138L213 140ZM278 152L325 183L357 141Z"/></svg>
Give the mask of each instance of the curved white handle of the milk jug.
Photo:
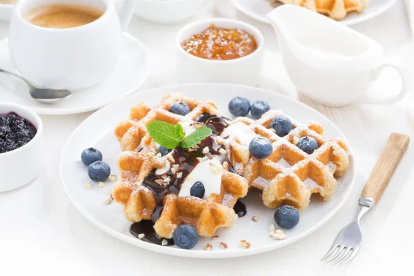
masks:
<svg viewBox="0 0 414 276"><path fill-rule="evenodd" d="M371 75L371 81L377 81L378 77L380 77L380 74L384 68L394 68L394 70L397 70L397 72L400 74L402 87L400 92L397 95L392 96L378 96L373 95L371 92L370 95L365 95L365 97L362 98L362 103L373 103L373 104L388 104L388 103L395 103L397 101L400 101L402 98L404 98L408 94L408 90L411 87L408 84L408 81L410 81L410 76L408 76L408 73L402 66L399 66L395 63L383 63L381 66L373 70Z"/></svg>

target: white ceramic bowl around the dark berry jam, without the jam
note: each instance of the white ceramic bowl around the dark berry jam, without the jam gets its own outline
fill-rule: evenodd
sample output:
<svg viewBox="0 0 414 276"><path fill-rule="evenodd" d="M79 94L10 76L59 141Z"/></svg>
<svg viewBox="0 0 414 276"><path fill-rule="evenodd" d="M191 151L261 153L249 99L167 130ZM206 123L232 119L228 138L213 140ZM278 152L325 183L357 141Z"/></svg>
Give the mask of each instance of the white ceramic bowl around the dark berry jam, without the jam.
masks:
<svg viewBox="0 0 414 276"><path fill-rule="evenodd" d="M43 165L43 124L34 111L14 103L0 103L0 114L16 112L28 119L37 129L28 144L15 150L0 153L0 192L28 184L39 175Z"/></svg>

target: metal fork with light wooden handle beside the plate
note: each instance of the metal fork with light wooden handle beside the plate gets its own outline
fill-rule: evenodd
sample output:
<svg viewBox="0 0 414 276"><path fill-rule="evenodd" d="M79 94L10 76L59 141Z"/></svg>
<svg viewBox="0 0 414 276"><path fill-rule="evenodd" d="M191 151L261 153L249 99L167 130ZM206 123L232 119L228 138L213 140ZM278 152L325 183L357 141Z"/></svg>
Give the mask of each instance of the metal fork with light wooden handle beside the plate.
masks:
<svg viewBox="0 0 414 276"><path fill-rule="evenodd" d="M322 257L321 261L327 259L328 263L334 262L333 264L342 266L357 255L362 244L359 221L380 200L395 168L400 163L402 155L406 152L409 142L410 138L406 135L399 133L390 135L380 158L377 160L368 181L366 181L358 201L357 215L355 215L351 224L348 224L339 232L328 253Z"/></svg>

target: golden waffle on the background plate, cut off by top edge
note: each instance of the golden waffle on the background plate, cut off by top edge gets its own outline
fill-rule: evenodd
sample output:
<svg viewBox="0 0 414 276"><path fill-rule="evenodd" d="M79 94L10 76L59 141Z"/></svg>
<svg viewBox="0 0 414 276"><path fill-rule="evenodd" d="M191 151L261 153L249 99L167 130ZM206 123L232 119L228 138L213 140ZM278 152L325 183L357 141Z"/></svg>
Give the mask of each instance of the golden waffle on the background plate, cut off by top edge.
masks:
<svg viewBox="0 0 414 276"><path fill-rule="evenodd" d="M369 0L270 0L293 4L325 14L331 19L342 20L348 12L362 12L369 3Z"/></svg>

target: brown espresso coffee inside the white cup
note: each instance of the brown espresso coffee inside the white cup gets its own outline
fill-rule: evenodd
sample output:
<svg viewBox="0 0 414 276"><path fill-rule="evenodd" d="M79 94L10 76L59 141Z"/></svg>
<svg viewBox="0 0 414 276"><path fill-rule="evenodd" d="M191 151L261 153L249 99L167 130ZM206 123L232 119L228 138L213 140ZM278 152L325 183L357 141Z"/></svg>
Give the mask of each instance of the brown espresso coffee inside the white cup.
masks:
<svg viewBox="0 0 414 276"><path fill-rule="evenodd" d="M35 8L25 19L43 28L65 29L86 25L97 20L103 12L84 5L55 4Z"/></svg>

